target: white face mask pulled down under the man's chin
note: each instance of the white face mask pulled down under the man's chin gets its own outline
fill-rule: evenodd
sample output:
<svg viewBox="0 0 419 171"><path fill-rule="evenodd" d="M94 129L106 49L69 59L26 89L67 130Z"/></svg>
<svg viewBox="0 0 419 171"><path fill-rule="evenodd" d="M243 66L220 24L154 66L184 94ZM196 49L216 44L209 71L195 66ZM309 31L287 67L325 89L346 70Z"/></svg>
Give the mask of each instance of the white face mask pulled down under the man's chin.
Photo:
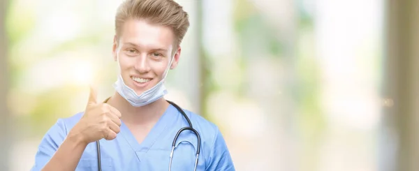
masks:
<svg viewBox="0 0 419 171"><path fill-rule="evenodd" d="M159 98L162 98L164 95L168 94L168 91L166 90L166 87L164 86L164 80L166 79L166 75L168 73L168 70L170 66L172 65L172 61L175 58L173 55L172 59L170 59L169 65L164 71L163 79L160 80L159 83L157 83L154 87L151 89L148 89L147 91L144 91L142 94L138 95L135 93L133 89L126 86L124 83L124 80L122 79L122 75L118 75L117 82L113 84L113 87L115 90L126 99L131 105L134 107L140 107L144 105L148 105L149 103L153 103L154 101L159 100ZM119 60L118 60L119 64Z"/></svg>

